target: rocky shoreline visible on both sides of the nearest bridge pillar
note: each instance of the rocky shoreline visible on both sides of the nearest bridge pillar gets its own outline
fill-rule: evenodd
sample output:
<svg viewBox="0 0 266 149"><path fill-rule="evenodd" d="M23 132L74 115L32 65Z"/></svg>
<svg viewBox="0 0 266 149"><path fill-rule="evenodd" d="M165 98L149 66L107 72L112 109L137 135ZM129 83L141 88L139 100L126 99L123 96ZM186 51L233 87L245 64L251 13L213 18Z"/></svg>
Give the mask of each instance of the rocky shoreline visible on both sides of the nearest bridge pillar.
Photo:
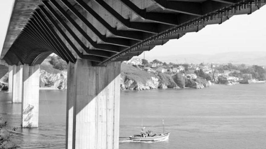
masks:
<svg viewBox="0 0 266 149"><path fill-rule="evenodd" d="M49 89L66 89L67 72L41 67L40 87ZM189 79L181 74L170 76L166 73L149 73L131 65L121 66L121 90L148 90L166 88L205 88L210 83L203 78Z"/></svg>

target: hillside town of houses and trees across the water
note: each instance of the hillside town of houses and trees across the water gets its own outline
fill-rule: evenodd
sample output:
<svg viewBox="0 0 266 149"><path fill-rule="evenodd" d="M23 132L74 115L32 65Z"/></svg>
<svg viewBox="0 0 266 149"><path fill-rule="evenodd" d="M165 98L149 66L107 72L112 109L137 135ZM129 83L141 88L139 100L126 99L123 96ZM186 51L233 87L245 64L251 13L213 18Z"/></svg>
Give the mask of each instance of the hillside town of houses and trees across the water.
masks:
<svg viewBox="0 0 266 149"><path fill-rule="evenodd" d="M264 67L257 65L247 66L245 64L233 65L232 62L229 62L227 65L209 63L167 64L157 59L148 62L146 59L132 58L129 61L123 61L123 63L150 73L166 73L171 76L181 74L190 79L196 79L200 76L207 81L217 84L248 84L251 82L265 82L266 80L266 70Z"/></svg>

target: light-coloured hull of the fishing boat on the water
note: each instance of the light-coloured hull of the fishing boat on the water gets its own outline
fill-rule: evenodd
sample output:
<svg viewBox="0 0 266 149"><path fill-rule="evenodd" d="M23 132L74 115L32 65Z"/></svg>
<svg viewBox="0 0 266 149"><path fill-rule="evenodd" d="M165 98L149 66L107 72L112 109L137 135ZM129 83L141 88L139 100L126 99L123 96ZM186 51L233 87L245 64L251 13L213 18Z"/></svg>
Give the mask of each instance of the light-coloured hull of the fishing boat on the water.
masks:
<svg viewBox="0 0 266 149"><path fill-rule="evenodd" d="M161 140L166 140L169 138L170 132L156 135L153 137L134 137L130 136L129 139L133 141L161 141Z"/></svg>

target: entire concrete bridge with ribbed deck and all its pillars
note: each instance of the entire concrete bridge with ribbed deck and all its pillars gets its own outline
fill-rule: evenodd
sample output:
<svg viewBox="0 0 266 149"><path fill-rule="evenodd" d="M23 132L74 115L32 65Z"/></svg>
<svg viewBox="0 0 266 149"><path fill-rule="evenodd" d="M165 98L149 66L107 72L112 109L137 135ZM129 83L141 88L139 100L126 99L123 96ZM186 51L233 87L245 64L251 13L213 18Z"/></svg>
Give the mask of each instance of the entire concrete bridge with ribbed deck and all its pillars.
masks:
<svg viewBox="0 0 266 149"><path fill-rule="evenodd" d="M15 0L0 58L9 67L12 102L22 103L21 127L38 127L40 64L55 53L68 63L66 147L117 149L120 61L263 5L265 0Z"/></svg>

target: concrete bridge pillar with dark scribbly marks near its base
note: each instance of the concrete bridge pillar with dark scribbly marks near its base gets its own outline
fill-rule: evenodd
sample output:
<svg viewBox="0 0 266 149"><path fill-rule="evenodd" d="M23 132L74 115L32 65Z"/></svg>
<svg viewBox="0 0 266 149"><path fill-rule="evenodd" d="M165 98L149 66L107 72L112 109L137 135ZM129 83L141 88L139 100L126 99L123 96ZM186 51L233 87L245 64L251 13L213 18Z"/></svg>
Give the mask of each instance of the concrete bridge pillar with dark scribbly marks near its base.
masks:
<svg viewBox="0 0 266 149"><path fill-rule="evenodd" d="M38 127L40 65L23 65L21 127Z"/></svg>

